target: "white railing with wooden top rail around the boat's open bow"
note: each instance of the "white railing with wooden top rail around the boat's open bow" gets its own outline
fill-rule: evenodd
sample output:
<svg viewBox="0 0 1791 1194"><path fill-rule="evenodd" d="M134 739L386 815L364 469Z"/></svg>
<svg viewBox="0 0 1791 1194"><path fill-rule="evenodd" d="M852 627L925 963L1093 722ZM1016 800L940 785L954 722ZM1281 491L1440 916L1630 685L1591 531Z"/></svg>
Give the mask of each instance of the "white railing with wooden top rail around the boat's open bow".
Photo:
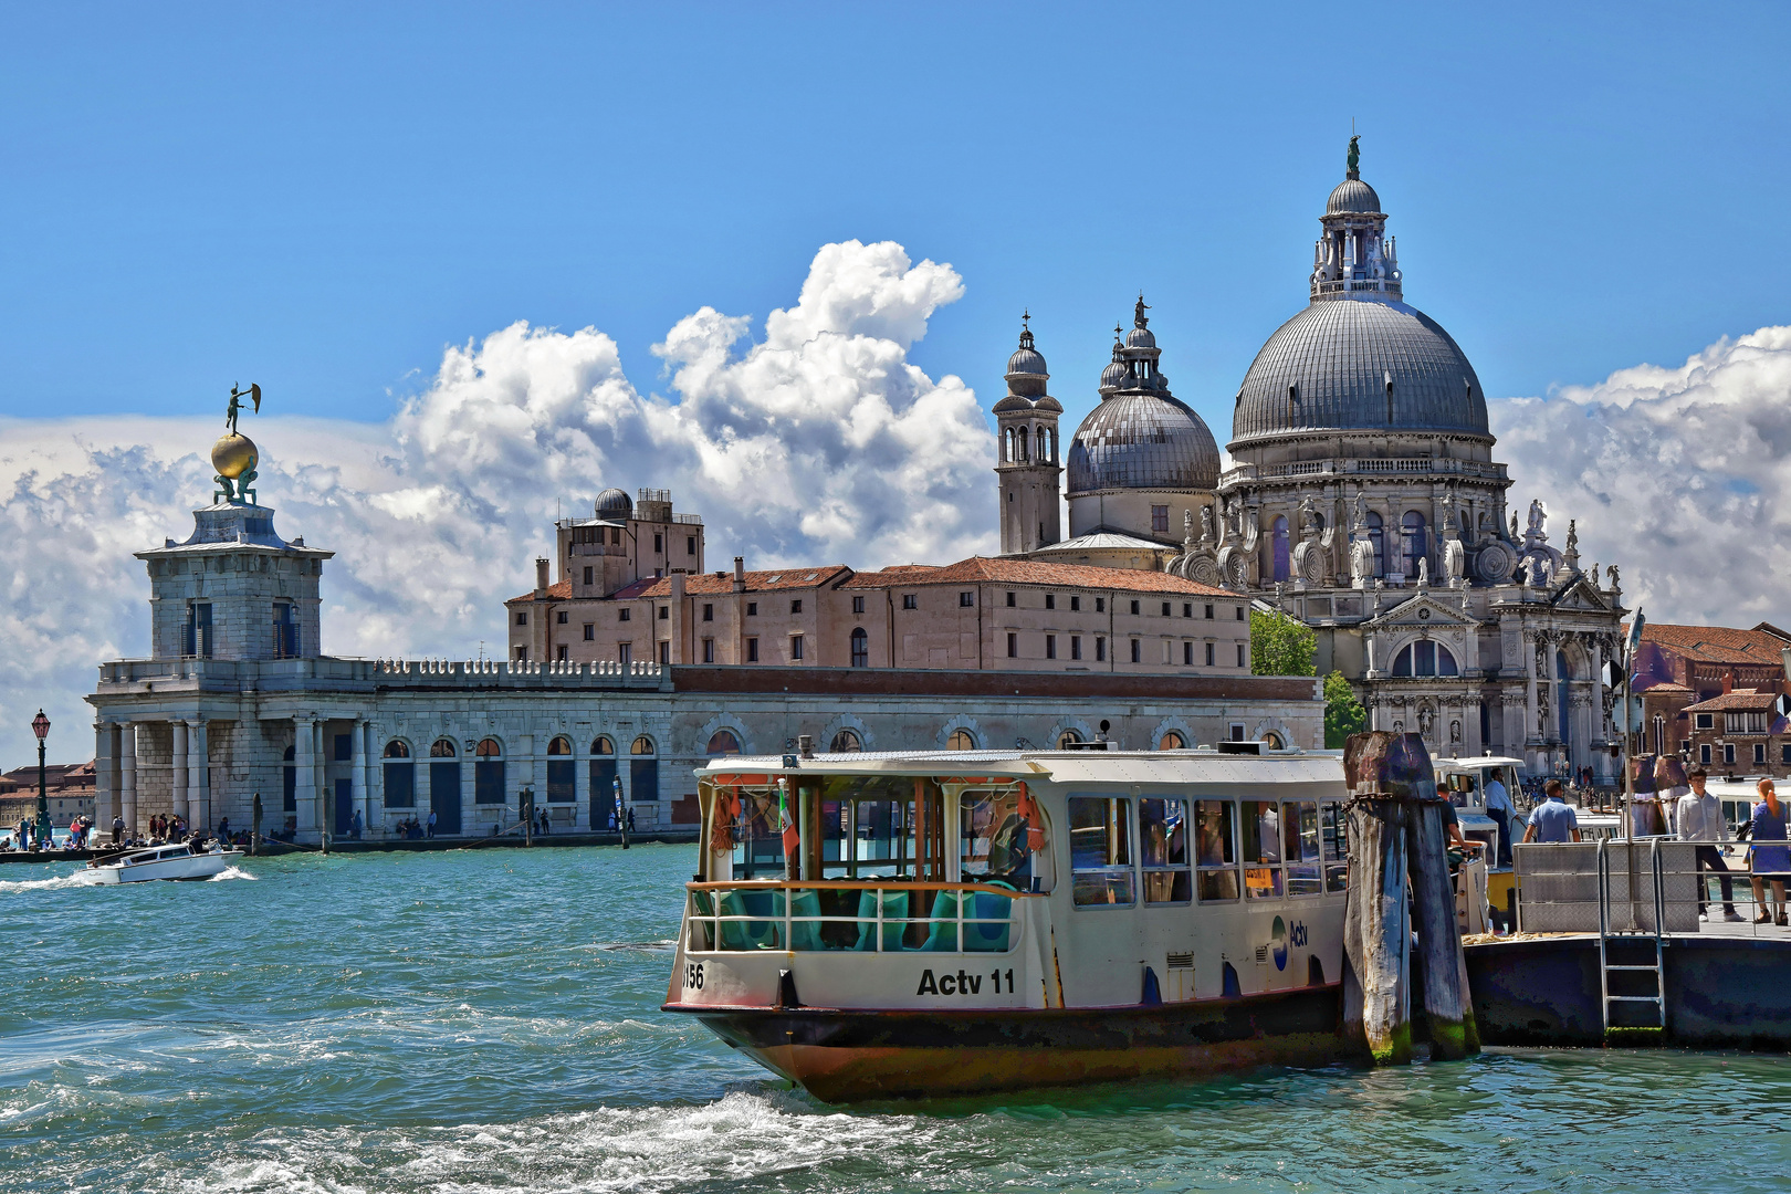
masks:
<svg viewBox="0 0 1791 1194"><path fill-rule="evenodd" d="M1019 899L987 883L795 879L686 884L693 952L1007 952Z"/></svg>

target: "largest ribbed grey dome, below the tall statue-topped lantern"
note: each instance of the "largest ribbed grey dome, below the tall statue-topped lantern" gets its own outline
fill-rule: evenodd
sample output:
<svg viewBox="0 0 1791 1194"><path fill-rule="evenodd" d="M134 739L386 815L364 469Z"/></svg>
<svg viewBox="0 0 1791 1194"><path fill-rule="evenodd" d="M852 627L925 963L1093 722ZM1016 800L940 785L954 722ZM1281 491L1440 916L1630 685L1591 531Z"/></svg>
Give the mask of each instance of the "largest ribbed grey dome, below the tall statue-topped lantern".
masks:
<svg viewBox="0 0 1791 1194"><path fill-rule="evenodd" d="M1485 437L1487 396L1460 345L1424 311L1384 299L1313 303L1250 363L1232 449L1333 430Z"/></svg>

